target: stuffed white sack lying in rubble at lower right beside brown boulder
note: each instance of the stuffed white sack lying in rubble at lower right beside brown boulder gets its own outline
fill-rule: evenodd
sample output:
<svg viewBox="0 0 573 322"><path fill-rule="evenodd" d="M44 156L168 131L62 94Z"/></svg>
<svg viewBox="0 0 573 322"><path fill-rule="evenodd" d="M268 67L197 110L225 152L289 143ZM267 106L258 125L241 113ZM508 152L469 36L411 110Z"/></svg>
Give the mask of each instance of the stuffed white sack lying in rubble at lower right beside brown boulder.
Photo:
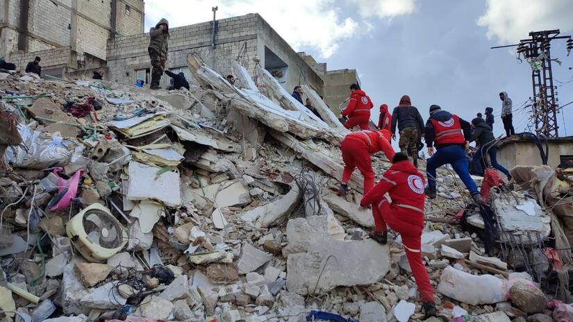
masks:
<svg viewBox="0 0 573 322"><path fill-rule="evenodd" d="M493 304L506 300L506 280L492 275L472 275L447 266L440 276L438 291L471 305Z"/></svg>

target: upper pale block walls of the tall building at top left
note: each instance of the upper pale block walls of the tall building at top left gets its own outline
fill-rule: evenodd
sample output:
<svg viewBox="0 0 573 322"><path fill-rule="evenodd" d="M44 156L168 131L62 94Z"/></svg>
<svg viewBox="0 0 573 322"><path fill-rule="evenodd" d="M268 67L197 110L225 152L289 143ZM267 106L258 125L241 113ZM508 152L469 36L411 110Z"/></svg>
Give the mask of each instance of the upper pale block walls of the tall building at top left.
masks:
<svg viewBox="0 0 573 322"><path fill-rule="evenodd" d="M22 53L15 53L19 49L22 1L0 1L0 56L6 56L8 60L22 56ZM28 0L26 52L69 46L80 55L87 53L105 60L107 40L112 29L111 3L110 0ZM129 10L126 10L126 6ZM117 0L117 33L141 33L143 10L143 0ZM20 47L24 48L24 44Z"/></svg>

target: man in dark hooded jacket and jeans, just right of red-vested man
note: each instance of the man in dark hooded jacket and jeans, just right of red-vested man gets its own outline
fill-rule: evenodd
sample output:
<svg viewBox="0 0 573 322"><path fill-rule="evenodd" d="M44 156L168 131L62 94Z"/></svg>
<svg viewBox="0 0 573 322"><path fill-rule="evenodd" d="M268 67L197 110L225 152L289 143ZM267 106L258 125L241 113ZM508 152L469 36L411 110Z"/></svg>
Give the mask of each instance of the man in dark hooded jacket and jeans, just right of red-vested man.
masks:
<svg viewBox="0 0 573 322"><path fill-rule="evenodd" d="M492 167L498 169L510 179L509 171L497 163L497 147L495 146L495 137L493 136L492 128L490 128L488 124L485 124L483 119L479 118L472 119L472 128L474 129L472 141L475 141L476 145L479 146L472 159L474 170L479 173L479 176L483 176L482 163L487 164L487 162L485 162L485 155L490 155Z"/></svg>

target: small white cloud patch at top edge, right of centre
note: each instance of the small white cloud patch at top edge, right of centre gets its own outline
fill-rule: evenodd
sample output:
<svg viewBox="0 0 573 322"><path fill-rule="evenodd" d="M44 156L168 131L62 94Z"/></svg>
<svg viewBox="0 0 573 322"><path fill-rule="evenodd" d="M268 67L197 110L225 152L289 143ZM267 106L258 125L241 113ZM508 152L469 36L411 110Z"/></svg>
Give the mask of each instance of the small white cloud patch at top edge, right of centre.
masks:
<svg viewBox="0 0 573 322"><path fill-rule="evenodd" d="M358 7L362 17L380 18L408 15L414 11L415 0L347 0Z"/></svg>

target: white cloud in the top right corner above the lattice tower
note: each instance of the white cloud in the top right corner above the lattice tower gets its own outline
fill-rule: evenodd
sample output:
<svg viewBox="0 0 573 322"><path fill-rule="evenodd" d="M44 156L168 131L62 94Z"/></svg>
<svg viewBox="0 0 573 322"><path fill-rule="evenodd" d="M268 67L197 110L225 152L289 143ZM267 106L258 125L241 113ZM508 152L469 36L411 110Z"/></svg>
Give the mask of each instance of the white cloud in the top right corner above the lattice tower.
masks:
<svg viewBox="0 0 573 322"><path fill-rule="evenodd" d="M487 0L487 10L477 24L488 28L488 38L515 44L530 31L573 31L571 0Z"/></svg>

